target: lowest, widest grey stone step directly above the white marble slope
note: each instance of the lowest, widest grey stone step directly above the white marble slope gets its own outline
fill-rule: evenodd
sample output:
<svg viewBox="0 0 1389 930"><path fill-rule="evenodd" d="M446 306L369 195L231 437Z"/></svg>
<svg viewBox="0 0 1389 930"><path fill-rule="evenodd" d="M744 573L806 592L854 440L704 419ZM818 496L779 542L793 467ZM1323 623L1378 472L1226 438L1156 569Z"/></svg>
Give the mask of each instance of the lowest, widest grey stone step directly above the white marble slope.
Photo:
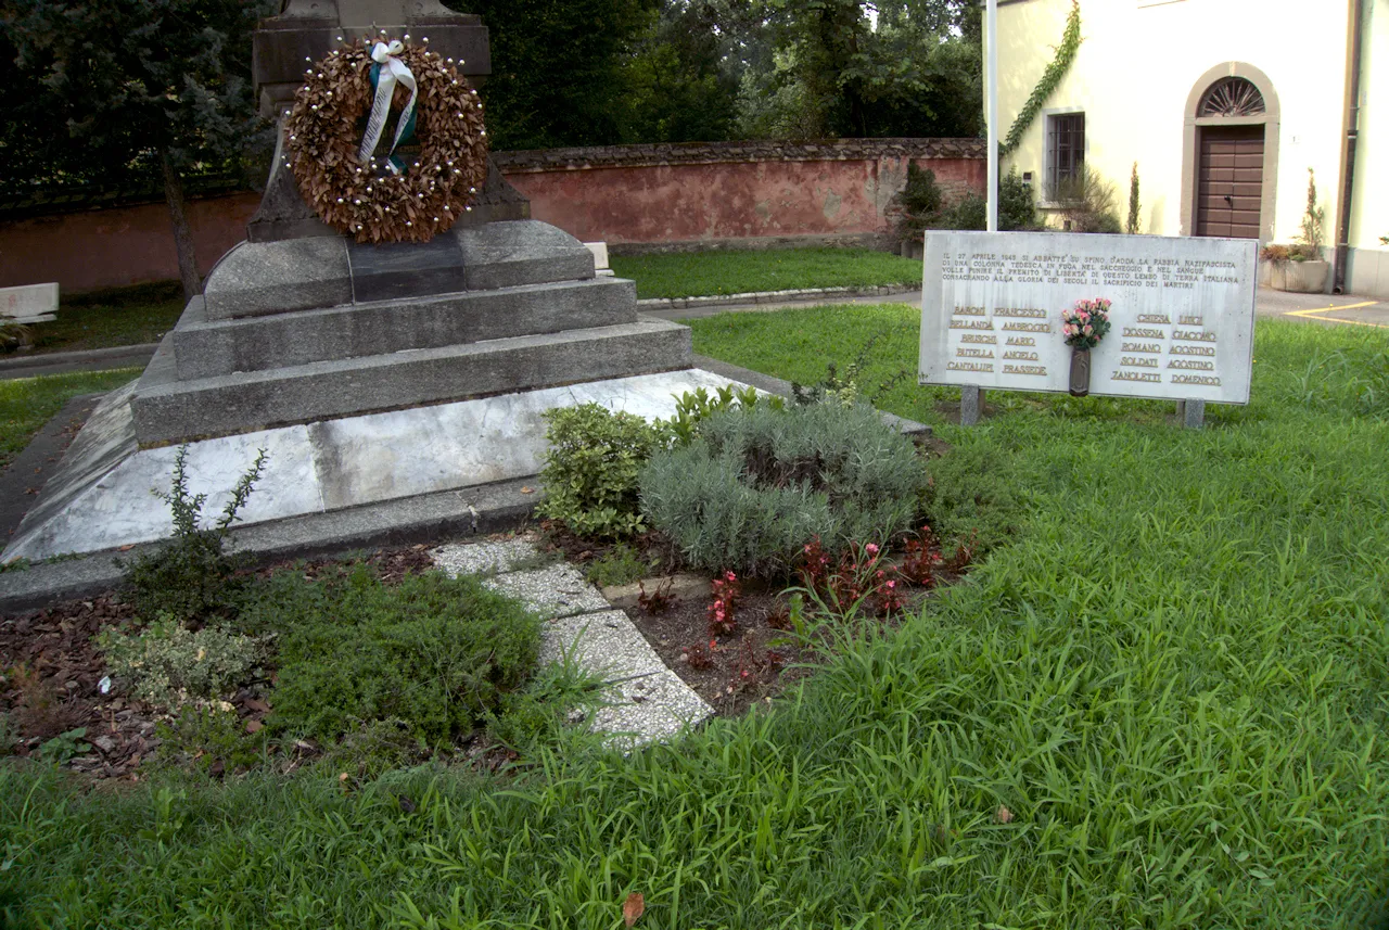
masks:
<svg viewBox="0 0 1389 930"><path fill-rule="evenodd" d="M690 365L688 328L640 319L179 380L171 333L131 409L136 440L149 447Z"/></svg>

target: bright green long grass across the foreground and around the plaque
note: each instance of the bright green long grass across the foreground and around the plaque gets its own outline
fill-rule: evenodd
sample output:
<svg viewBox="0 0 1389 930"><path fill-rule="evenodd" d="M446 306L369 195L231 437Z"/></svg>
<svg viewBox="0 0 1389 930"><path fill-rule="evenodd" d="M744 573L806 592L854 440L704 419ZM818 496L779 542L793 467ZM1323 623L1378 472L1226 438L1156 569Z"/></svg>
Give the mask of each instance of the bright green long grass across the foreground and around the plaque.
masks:
<svg viewBox="0 0 1389 930"><path fill-rule="evenodd" d="M718 316L696 351L914 369L910 308ZM906 323L906 328L901 325ZM633 758L86 793L0 766L19 926L1371 927L1389 899L1389 337L1260 321L1253 403L895 387L1003 544L767 712ZM410 804L401 801L407 798Z"/></svg>

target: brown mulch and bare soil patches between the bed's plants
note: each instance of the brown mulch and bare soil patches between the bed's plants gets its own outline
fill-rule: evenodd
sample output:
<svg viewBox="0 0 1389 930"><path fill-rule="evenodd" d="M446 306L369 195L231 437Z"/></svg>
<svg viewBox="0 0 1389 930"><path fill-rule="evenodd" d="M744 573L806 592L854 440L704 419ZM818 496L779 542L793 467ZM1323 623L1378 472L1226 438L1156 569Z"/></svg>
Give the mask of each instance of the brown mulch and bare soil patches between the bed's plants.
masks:
<svg viewBox="0 0 1389 930"><path fill-rule="evenodd" d="M549 523L543 527L542 546L581 569L611 548L611 544L579 539ZM640 537L636 547L647 561L658 565L658 570L676 568L669 546L658 534ZM428 550L426 546L382 550L365 561L382 580L396 583L433 568ZM340 561L281 562L256 569L256 575L267 576L290 564L313 579ZM957 572L943 570L938 583L949 584L956 577ZM742 583L733 607L733 629L726 633L710 629L711 597L707 593L664 601L654 598L654 602L647 597L626 614L661 659L720 716L738 716L808 676L824 657L825 641L799 641L790 633L789 598L783 589L792 583ZM654 582L646 582L647 595L658 590ZM931 591L907 589L906 595L906 609L911 611ZM161 743L158 723L168 715L121 694L101 694L100 683L107 672L96 648L103 629L131 620L133 611L118 591L0 616L0 713L10 722L10 737L18 730L18 744L11 745L15 755L39 755L47 740L85 727L81 754L67 762L71 769L100 780L140 779L142 762ZM882 618L879 622L892 625L895 620ZM231 700L247 732L256 732L269 712L264 700L268 684L268 680L253 683ZM293 769L315 756L318 750L296 743L282 747L282 752L286 766ZM463 755L472 765L492 769L515 758L481 743L467 747ZM214 762L210 773L222 775L221 762Z"/></svg>

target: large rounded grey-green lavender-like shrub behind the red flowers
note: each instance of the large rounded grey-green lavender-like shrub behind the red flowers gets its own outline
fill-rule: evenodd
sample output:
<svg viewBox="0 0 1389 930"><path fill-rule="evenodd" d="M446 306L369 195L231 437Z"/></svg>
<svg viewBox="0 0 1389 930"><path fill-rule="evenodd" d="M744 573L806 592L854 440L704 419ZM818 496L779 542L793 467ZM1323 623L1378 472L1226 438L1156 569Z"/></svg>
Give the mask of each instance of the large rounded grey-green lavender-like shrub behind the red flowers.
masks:
<svg viewBox="0 0 1389 930"><path fill-rule="evenodd" d="M778 575L815 536L839 550L908 529L924 477L911 440L870 407L757 407L654 455L642 508L692 566Z"/></svg>

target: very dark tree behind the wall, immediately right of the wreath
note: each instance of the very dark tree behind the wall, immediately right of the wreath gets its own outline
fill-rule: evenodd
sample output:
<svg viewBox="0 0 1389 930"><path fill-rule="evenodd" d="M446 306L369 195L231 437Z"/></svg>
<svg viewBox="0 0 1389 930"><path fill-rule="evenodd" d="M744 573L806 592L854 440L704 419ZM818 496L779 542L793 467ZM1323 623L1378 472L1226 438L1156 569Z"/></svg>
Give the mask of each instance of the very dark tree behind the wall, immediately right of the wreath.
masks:
<svg viewBox="0 0 1389 930"><path fill-rule="evenodd" d="M444 0L492 39L482 87L497 149L622 142L625 67L661 0Z"/></svg>

